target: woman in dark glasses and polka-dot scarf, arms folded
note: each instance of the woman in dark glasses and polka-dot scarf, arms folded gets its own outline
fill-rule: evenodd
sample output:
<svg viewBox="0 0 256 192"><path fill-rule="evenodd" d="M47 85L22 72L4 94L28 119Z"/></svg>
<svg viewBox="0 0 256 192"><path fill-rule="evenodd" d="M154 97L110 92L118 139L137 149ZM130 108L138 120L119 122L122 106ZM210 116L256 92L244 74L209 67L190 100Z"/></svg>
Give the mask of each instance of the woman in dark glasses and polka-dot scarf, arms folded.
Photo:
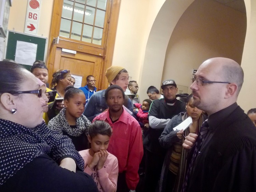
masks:
<svg viewBox="0 0 256 192"><path fill-rule="evenodd" d="M0 80L0 191L98 191L70 139L44 123L37 78L0 62Z"/></svg>

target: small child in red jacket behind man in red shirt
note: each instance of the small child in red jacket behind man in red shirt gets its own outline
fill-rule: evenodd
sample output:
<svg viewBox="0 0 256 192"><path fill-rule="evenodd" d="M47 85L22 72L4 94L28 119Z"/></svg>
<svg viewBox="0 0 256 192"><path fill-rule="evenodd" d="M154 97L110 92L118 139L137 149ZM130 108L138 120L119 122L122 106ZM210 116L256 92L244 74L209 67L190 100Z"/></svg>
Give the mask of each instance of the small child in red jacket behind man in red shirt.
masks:
<svg viewBox="0 0 256 192"><path fill-rule="evenodd" d="M148 128L149 127L149 123L148 123L148 110L150 109L150 105L151 105L152 101L150 99L145 99L141 104L139 103L134 103L134 109L133 109L133 114L136 115L138 117L138 121L141 125L141 127L145 127ZM136 111L136 108L139 109L139 111ZM142 126L142 124L144 126Z"/></svg>

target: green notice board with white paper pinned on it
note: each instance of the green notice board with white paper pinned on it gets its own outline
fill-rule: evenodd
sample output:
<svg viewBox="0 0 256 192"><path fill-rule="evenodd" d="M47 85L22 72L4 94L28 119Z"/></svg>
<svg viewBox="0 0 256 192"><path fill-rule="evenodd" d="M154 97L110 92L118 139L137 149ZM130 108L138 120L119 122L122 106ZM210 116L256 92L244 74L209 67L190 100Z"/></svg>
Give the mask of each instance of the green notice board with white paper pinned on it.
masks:
<svg viewBox="0 0 256 192"><path fill-rule="evenodd" d="M9 31L8 33L6 56L5 56L6 59L15 60L17 41L37 44L37 53L36 53L35 60L44 61L46 38L28 35L24 33L12 32L12 31ZM23 64L23 66L30 71L31 65Z"/></svg>

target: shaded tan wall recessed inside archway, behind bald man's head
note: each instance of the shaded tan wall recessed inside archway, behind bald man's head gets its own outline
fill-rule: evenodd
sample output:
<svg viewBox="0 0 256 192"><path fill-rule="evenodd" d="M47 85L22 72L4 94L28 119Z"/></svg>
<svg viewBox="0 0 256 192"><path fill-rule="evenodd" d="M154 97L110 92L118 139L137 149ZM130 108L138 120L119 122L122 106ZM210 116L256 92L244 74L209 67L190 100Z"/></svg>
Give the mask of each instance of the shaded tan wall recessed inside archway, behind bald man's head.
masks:
<svg viewBox="0 0 256 192"><path fill-rule="evenodd" d="M173 30L162 80L171 78L189 87L193 69L212 57L227 57L241 64L245 33L245 13L216 1L194 1Z"/></svg>

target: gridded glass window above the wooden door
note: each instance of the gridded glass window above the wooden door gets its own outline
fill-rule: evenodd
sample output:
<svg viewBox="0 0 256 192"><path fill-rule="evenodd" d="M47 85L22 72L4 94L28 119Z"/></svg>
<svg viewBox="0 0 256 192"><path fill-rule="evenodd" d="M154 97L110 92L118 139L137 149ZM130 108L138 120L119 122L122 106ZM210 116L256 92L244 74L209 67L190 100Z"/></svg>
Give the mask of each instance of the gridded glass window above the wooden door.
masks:
<svg viewBox="0 0 256 192"><path fill-rule="evenodd" d="M60 36L101 45L108 0L63 0Z"/></svg>

